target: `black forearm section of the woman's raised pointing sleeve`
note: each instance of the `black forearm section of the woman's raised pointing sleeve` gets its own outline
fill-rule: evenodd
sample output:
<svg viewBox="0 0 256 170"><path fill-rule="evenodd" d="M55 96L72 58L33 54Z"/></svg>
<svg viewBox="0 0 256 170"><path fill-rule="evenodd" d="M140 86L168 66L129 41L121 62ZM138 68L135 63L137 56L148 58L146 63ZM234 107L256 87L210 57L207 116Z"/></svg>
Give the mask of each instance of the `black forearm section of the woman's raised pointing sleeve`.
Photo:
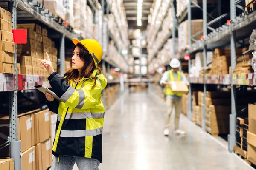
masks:
<svg viewBox="0 0 256 170"><path fill-rule="evenodd" d="M52 91L59 97L70 88L70 85L66 83L66 79L59 75L57 72L53 72L49 77L48 80L52 87Z"/></svg>

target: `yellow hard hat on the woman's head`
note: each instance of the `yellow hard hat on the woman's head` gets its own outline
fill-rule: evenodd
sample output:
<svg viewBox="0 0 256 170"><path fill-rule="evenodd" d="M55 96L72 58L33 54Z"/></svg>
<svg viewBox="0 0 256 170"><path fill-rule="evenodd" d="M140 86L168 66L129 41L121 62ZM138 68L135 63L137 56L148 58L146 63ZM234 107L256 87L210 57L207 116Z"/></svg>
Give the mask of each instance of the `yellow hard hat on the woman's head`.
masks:
<svg viewBox="0 0 256 170"><path fill-rule="evenodd" d="M102 60L102 47L98 41L96 41L94 39L84 39L84 40L79 41L76 38L73 38L72 42L75 45L77 45L77 44L83 45L89 51L91 56L93 57L93 61L96 66Z"/></svg>

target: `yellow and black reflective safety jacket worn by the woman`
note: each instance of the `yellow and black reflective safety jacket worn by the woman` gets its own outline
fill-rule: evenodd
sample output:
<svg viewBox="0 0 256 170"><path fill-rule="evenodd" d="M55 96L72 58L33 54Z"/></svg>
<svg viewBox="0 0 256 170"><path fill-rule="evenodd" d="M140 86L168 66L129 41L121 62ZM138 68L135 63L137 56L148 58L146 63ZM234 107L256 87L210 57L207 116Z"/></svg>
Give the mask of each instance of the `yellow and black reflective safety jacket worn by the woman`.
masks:
<svg viewBox="0 0 256 170"><path fill-rule="evenodd" d="M97 81L84 77L73 85L54 72L48 78L52 91L62 102L47 102L50 111L58 113L52 154L81 156L102 162L102 128L105 108L101 101L107 85L103 74L93 71Z"/></svg>

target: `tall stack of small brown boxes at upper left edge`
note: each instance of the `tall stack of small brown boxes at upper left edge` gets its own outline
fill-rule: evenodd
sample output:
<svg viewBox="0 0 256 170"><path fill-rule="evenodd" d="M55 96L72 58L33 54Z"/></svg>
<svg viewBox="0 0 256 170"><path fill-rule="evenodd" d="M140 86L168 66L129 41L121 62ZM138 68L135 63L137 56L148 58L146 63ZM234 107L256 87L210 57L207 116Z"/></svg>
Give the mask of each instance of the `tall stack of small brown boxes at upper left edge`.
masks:
<svg viewBox="0 0 256 170"><path fill-rule="evenodd" d="M0 8L0 73L14 73L14 43L11 13Z"/></svg>

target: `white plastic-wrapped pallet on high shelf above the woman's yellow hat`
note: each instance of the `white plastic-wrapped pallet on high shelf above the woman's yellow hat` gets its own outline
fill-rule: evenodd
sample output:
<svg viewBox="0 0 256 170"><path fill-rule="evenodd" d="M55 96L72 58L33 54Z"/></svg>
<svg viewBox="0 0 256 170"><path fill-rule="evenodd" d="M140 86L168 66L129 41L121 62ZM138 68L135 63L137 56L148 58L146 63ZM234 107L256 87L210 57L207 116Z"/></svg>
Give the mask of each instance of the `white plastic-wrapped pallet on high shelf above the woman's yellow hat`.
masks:
<svg viewBox="0 0 256 170"><path fill-rule="evenodd" d="M86 21L86 0L74 0L74 31L81 35L82 37L86 38L86 28L87 28L87 21ZM83 9L83 10L81 10Z"/></svg>

